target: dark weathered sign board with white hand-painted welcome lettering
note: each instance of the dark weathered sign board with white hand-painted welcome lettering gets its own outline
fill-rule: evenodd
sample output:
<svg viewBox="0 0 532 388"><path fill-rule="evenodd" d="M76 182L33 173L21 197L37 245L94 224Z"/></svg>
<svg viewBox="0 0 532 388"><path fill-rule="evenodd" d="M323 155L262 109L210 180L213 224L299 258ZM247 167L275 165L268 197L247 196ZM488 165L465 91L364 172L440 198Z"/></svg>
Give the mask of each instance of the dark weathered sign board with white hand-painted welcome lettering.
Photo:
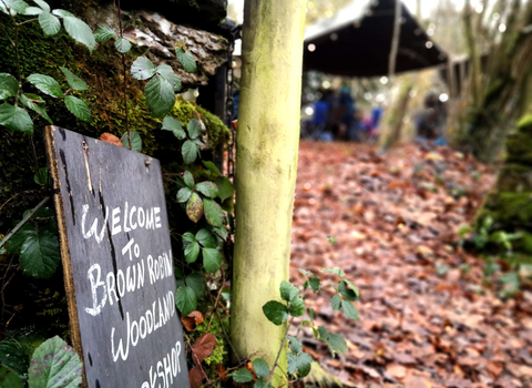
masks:
<svg viewBox="0 0 532 388"><path fill-rule="evenodd" d="M157 160L47 126L72 341L89 388L188 388Z"/></svg>

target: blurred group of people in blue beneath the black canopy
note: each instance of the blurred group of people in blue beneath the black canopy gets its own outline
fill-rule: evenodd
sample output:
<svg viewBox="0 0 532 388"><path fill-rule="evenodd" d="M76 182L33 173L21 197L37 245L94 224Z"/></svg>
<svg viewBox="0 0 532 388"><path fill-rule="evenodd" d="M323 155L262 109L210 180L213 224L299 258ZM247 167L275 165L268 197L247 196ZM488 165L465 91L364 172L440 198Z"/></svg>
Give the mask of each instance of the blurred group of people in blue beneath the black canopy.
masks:
<svg viewBox="0 0 532 388"><path fill-rule="evenodd" d="M382 109L376 106L369 116L357 109L349 88L321 90L314 104L313 118L304 123L301 136L321 141L347 140L375 142L379 133Z"/></svg>

